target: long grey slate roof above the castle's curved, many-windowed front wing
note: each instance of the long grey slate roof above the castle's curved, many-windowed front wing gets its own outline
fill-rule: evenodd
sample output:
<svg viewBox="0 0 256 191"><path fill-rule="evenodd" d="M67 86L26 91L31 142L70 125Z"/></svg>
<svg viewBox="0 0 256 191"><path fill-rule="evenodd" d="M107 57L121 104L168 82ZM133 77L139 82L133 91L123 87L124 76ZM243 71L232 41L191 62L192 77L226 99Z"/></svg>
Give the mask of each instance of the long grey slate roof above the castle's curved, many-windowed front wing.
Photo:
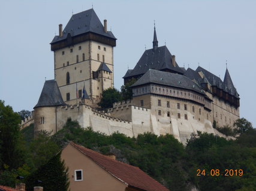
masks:
<svg viewBox="0 0 256 191"><path fill-rule="evenodd" d="M143 84L161 84L168 85L171 87L183 88L187 90L196 91L200 94L206 95L201 88L195 84L191 79L186 76L179 75L176 73L162 72L159 70L149 70L147 71L137 82L131 85L135 87Z"/></svg>

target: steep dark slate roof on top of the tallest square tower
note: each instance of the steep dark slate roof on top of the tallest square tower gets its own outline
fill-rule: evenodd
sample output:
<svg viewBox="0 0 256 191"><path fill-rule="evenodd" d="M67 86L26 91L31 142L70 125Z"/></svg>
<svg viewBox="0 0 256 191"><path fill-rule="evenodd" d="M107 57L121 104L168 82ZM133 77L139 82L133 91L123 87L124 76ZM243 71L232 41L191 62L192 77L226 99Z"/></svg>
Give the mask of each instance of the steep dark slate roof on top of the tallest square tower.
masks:
<svg viewBox="0 0 256 191"><path fill-rule="evenodd" d="M62 37L56 35L50 44L62 41L67 38L68 33L71 36L81 35L86 32L97 33L98 35L107 36L116 39L111 31L104 32L104 26L95 13L94 9L89 9L81 13L74 14L68 21L67 26L63 30Z"/></svg>

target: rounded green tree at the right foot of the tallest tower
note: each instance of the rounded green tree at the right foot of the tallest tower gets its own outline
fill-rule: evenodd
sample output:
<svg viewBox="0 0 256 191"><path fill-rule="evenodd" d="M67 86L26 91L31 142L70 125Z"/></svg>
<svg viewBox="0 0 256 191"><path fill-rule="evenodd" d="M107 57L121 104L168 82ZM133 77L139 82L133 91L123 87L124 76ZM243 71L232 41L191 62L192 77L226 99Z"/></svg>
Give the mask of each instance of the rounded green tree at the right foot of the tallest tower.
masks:
<svg viewBox="0 0 256 191"><path fill-rule="evenodd" d="M113 103L121 100L121 93L118 90L116 90L116 88L108 88L107 90L103 91L101 100L98 103L98 105L101 106L101 108L103 109L107 109L111 108L113 106Z"/></svg>

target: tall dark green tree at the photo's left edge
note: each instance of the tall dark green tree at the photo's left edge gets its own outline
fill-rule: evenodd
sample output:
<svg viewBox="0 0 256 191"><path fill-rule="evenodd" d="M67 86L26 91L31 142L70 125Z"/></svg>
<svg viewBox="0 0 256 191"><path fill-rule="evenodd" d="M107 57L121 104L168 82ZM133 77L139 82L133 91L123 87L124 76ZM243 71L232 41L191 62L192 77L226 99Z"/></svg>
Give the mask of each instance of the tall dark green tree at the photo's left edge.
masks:
<svg viewBox="0 0 256 191"><path fill-rule="evenodd" d="M10 170L20 167L25 158L25 151L21 143L20 116L11 106L5 106L0 100L0 169L4 164Z"/></svg>

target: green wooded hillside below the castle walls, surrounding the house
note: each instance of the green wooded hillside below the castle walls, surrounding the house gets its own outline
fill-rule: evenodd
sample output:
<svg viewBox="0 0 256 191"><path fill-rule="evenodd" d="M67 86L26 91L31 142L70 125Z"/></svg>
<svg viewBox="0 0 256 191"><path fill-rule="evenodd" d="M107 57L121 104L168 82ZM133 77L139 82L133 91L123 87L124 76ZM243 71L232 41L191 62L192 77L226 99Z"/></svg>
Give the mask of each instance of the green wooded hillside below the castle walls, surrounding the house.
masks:
<svg viewBox="0 0 256 191"><path fill-rule="evenodd" d="M70 118L58 133L41 131L34 137L33 124L20 130L20 114L0 100L0 185L15 187L21 181L26 190L34 186L67 190L67 168L60 153L73 141L115 154L117 160L139 167L170 190L256 188L256 130L244 118L234 123L236 131L224 127L224 133L233 134L236 140L198 132L183 146L170 134L144 133L131 138L117 132L107 136L82 128Z"/></svg>

